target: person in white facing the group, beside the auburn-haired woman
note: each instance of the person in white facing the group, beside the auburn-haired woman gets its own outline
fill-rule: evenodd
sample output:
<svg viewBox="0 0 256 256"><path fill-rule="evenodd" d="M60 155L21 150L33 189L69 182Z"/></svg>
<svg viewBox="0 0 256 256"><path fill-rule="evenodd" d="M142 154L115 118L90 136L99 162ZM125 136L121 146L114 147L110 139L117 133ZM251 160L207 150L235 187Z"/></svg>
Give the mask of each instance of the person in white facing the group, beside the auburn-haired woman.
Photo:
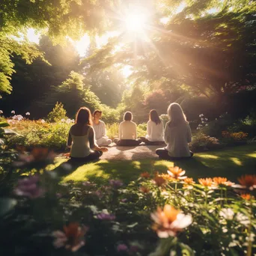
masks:
<svg viewBox="0 0 256 256"><path fill-rule="evenodd" d="M96 144L98 146L109 146L112 140L106 135L106 126L103 121L100 120L103 112L100 110L95 110L93 114L93 127L95 132Z"/></svg>

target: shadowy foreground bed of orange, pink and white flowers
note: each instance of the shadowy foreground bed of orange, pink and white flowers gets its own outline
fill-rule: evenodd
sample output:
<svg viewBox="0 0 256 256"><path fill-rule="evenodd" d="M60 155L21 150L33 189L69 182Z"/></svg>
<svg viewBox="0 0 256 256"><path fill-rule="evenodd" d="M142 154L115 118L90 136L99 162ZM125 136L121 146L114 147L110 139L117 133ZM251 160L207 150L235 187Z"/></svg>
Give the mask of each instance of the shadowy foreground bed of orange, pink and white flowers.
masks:
<svg viewBox="0 0 256 256"><path fill-rule="evenodd" d="M70 165L46 171L53 158L46 149L15 157L1 187L1 255L255 253L255 175L196 183L171 167L130 183L61 183Z"/></svg>

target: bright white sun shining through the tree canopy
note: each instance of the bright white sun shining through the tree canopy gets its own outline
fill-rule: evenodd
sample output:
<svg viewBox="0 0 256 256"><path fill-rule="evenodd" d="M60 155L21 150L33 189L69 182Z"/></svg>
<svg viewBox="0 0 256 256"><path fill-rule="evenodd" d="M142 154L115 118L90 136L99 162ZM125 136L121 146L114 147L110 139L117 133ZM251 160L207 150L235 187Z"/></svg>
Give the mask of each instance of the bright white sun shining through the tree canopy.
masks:
<svg viewBox="0 0 256 256"><path fill-rule="evenodd" d="M140 32L145 28L147 14L142 10L135 10L127 13L125 23L128 31Z"/></svg>

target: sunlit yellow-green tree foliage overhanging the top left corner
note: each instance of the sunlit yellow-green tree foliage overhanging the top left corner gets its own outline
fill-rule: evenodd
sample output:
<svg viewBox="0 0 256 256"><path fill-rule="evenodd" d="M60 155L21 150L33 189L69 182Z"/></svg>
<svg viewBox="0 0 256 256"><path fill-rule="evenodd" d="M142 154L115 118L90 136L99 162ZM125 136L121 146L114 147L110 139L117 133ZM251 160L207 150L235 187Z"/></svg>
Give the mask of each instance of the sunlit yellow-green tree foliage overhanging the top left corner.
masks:
<svg viewBox="0 0 256 256"><path fill-rule="evenodd" d="M106 10L118 0L3 0L0 1L0 92L10 94L14 72L11 55L21 55L28 63L43 55L20 33L27 28L44 30L55 42L69 36L79 39L85 32L102 33L109 26ZM19 41L12 36L19 37Z"/></svg>

